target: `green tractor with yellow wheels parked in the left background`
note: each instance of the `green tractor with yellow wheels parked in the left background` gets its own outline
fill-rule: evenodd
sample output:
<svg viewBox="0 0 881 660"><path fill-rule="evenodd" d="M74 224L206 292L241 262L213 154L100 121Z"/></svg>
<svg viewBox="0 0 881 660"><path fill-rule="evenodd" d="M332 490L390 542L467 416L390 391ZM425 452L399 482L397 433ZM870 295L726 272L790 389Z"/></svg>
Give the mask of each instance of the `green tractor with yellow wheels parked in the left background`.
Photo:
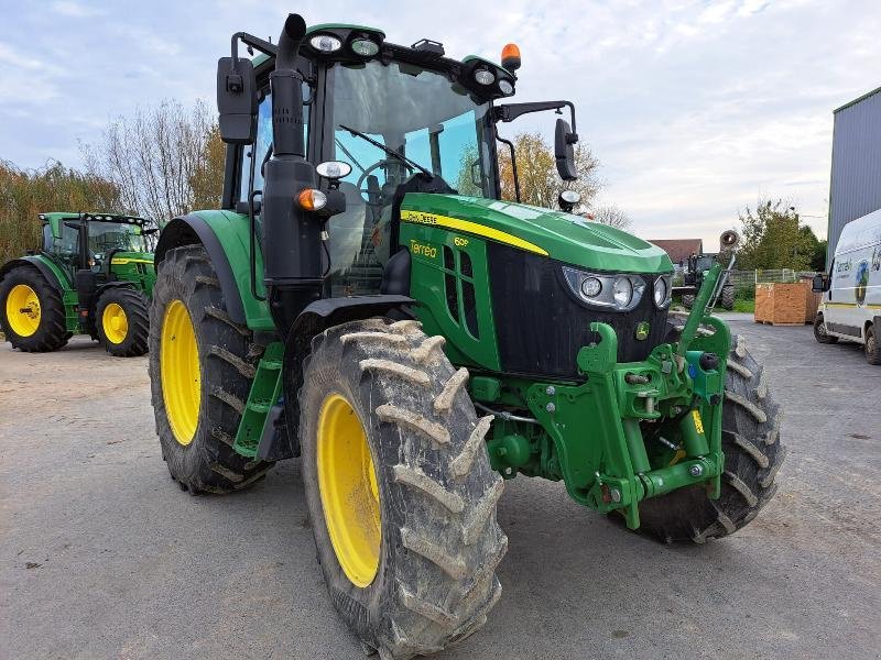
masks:
<svg viewBox="0 0 881 660"><path fill-rule="evenodd" d="M146 352L156 280L151 222L111 213L41 213L43 246L0 267L0 328L13 349L56 351L90 334L120 358Z"/></svg>

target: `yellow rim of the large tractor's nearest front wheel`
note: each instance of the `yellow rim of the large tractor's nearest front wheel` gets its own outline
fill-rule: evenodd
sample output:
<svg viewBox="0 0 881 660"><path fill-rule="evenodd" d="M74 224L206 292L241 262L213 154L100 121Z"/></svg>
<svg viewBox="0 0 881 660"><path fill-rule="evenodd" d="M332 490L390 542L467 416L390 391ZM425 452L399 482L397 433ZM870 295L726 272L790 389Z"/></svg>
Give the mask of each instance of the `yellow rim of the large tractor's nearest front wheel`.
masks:
<svg viewBox="0 0 881 660"><path fill-rule="evenodd" d="M365 427L339 394L331 394L322 405L317 463L322 508L334 552L351 583L365 587L379 570L379 484Z"/></svg>

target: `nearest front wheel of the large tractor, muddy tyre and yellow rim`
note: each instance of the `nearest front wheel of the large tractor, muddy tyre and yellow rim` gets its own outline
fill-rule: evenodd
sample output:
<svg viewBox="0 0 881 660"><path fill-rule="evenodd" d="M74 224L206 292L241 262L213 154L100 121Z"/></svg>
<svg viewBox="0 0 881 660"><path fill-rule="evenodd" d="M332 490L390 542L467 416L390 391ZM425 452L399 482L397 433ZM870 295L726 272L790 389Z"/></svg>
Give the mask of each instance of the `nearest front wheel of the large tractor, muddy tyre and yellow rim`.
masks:
<svg viewBox="0 0 881 660"><path fill-rule="evenodd" d="M480 628L501 594L501 477L465 384L416 321L316 337L300 394L303 481L330 598L383 660ZM289 377L291 377L289 375Z"/></svg>

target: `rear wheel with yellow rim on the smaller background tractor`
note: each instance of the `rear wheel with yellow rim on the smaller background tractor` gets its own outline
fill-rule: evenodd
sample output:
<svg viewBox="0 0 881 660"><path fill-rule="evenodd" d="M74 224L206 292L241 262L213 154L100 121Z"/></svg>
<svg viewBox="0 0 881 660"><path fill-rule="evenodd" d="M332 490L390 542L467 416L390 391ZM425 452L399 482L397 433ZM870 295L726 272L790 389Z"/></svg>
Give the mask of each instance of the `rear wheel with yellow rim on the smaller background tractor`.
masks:
<svg viewBox="0 0 881 660"><path fill-rule="evenodd" d="M42 353L67 343L62 297L31 266L18 266L0 280L0 326L13 349Z"/></svg>

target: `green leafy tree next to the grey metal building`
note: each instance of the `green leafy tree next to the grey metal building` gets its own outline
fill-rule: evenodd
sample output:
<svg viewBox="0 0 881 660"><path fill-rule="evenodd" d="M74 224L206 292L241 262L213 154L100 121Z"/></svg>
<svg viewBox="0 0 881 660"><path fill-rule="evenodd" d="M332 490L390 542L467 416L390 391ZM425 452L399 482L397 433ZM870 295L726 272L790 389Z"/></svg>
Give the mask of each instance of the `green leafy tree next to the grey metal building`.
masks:
<svg viewBox="0 0 881 660"><path fill-rule="evenodd" d="M760 200L754 210L747 207L739 218L743 235L739 268L811 268L817 238L809 227L800 223L794 206L782 199Z"/></svg>

